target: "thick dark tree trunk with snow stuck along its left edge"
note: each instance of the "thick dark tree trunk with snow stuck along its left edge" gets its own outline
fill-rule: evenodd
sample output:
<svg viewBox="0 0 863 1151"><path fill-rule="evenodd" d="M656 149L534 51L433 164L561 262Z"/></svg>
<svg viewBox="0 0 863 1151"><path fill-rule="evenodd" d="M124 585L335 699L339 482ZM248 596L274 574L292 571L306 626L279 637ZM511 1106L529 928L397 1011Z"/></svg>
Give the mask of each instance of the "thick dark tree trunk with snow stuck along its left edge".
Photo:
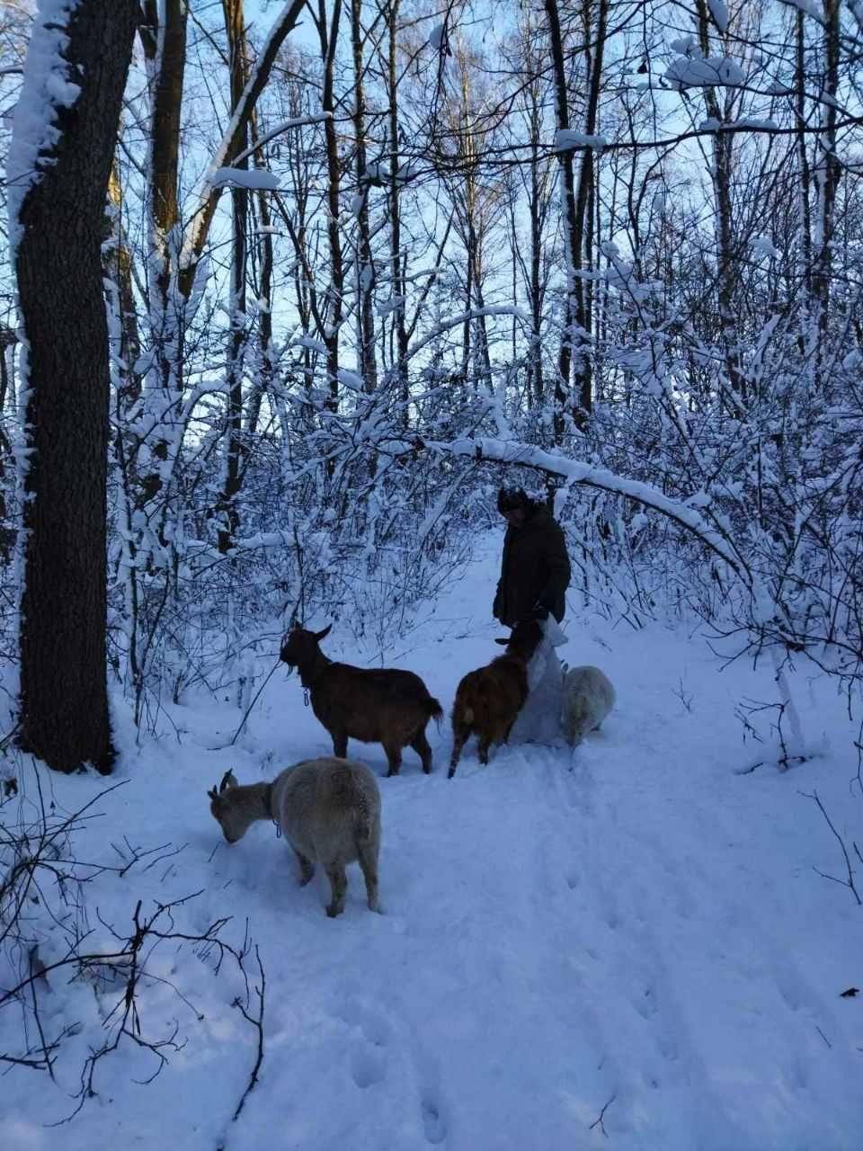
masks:
<svg viewBox="0 0 863 1151"><path fill-rule="evenodd" d="M107 772L113 760L106 678L109 375L100 247L137 15L135 0L81 0L72 9L64 56L81 93L70 108L56 109L58 142L37 160L38 178L17 213L31 452L24 480L21 744L62 771L90 762Z"/></svg>

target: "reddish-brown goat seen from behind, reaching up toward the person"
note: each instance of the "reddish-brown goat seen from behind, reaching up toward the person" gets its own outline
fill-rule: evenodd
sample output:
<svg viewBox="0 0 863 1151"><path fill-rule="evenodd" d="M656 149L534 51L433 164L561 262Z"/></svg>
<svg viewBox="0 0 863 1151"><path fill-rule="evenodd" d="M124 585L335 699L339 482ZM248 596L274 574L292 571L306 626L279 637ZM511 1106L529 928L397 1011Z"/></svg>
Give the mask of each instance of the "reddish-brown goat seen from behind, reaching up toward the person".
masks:
<svg viewBox="0 0 863 1151"><path fill-rule="evenodd" d="M480 763L488 763L491 744L505 744L527 699L527 662L542 642L535 619L515 624L506 651L476 671L468 671L456 689L452 708L452 757L448 779L456 775L461 748L475 732Z"/></svg>

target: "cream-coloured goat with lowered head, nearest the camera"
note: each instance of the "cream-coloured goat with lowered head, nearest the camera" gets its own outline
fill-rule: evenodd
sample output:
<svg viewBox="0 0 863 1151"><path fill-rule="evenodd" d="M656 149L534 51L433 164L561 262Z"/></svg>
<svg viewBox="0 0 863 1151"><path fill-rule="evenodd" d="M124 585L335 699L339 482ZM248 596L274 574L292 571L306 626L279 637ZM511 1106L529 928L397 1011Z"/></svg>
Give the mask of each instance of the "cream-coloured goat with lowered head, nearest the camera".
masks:
<svg viewBox="0 0 863 1151"><path fill-rule="evenodd" d="M368 909L380 912L381 795L364 764L329 756L304 760L269 784L245 787L226 771L219 791L213 787L207 798L229 844L242 839L255 820L273 820L299 860L301 887L320 863L330 883L330 918L344 910L345 864L354 861L366 879Z"/></svg>

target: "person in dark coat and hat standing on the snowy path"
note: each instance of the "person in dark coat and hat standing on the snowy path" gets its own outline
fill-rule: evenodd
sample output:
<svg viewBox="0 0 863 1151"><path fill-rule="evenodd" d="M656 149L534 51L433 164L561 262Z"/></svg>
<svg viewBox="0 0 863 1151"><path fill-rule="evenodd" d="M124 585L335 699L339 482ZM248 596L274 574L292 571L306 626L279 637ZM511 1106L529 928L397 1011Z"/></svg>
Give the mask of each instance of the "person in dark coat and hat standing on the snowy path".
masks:
<svg viewBox="0 0 863 1151"><path fill-rule="evenodd" d="M509 523L492 613L506 627L522 619L564 618L570 557L564 533L544 504L503 487L497 510Z"/></svg>

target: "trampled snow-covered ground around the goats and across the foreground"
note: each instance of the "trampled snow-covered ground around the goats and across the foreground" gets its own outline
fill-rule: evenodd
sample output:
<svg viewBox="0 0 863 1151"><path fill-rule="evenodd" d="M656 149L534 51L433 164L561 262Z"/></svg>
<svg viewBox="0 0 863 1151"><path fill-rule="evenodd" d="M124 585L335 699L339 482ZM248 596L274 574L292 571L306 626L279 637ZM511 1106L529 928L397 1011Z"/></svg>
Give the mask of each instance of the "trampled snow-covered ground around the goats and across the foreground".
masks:
<svg viewBox="0 0 863 1151"><path fill-rule="evenodd" d="M474 564L387 658L420 672L448 711L460 676L497 651L495 563L488 554ZM230 915L224 937L235 945L247 920L266 973L260 1080L231 1123L258 1051L254 1027L231 1006L242 980L229 962L216 977L213 952L162 945L151 970L188 1003L168 983L142 988L142 1030L165 1036L176 1020L183 1050L139 1085L156 1061L124 1041L98 1065L98 1093L72 1122L45 1126L75 1106L82 1064L119 994L49 975L43 1027L82 1027L64 1041L56 1085L7 1067L0 1146L161 1148L168 1137L184 1151L863 1146L863 994L840 994L863 986L863 908L814 870L847 875L801 794L817 791L849 851L863 843L842 699L799 670L804 733L823 756L740 775L753 748L734 707L776 699L766 663L720 672L682 628L612 627L579 618L572 602L567 633L562 656L598 664L617 687L605 729L574 753L501 749L487 769L471 745L448 782L448 724L430 726L434 773L408 749L402 776L380 780L380 916L366 909L356 867L345 914L328 920L326 881L300 889L269 824L229 847L208 813L206 790L229 767L251 783L329 753L296 677L276 672L228 750L208 748L236 730L229 702L174 708L177 735L140 748L121 715L127 750L110 783L128 782L96 803L104 815L78 833L78 856L113 863L112 844L128 854L124 836L143 848L184 846L91 885L87 946L114 942L99 917L130 931L139 899L146 914L200 891L176 910L177 930ZM324 649L374 660L338 630ZM381 748L352 744L350 754L383 773ZM47 772L41 783L67 810L106 786ZM26 807L32 773L22 784ZM51 940L39 954L58 958ZM253 952L246 968L259 984ZM20 1020L0 1012L0 1054Z"/></svg>

